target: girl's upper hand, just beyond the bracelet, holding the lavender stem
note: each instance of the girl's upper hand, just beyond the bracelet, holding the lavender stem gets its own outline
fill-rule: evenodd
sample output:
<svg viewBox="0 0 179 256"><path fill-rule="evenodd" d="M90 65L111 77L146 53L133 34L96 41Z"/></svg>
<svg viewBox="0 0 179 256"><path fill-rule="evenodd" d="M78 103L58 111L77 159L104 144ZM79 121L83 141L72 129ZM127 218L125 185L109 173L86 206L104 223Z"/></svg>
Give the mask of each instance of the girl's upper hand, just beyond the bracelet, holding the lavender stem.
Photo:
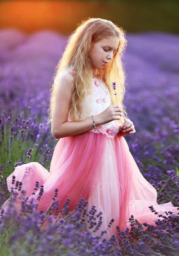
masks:
<svg viewBox="0 0 179 256"><path fill-rule="evenodd" d="M120 116L122 116L122 110L119 105L111 105L103 112L99 114L101 120L103 120L104 124L111 122L113 120L120 120Z"/></svg>

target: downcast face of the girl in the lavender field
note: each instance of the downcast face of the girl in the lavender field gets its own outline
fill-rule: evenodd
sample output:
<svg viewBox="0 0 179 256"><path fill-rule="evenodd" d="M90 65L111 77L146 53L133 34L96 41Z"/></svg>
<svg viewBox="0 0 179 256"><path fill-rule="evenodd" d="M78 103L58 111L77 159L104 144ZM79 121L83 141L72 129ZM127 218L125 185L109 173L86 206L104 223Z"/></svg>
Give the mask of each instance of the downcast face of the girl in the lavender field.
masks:
<svg viewBox="0 0 179 256"><path fill-rule="evenodd" d="M89 57L92 62L93 69L101 69L113 58L114 52L117 50L119 39L117 37L103 38L97 43L91 42Z"/></svg>

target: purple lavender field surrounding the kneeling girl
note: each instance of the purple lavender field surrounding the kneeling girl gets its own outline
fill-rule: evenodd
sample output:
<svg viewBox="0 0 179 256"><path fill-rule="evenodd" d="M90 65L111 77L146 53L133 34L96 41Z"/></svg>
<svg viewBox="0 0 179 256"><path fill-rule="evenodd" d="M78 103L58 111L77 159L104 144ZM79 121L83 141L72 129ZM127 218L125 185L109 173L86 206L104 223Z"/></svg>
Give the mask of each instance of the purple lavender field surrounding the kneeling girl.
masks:
<svg viewBox="0 0 179 256"><path fill-rule="evenodd" d="M46 125L49 86L67 37L52 31L27 35L3 29L0 38L2 206L10 196L6 177L16 166L35 161L49 170L57 143ZM156 188L158 204L171 201L179 207L179 36L146 32L127 33L126 38L124 104L136 134L125 139L142 175ZM23 212L29 209L23 221L13 209L8 217L0 213L1 256L179 255L179 215L172 212L164 221L156 221L156 227L146 224L143 229L137 221L132 222L131 231L119 230L118 239L113 236L107 241L92 234L93 211L89 222L82 224L86 202L81 201L77 213L69 218L67 200L58 227L52 216L45 216L49 218L45 234L40 232L44 219L32 212L33 204L23 205ZM87 231L82 235L85 225Z"/></svg>

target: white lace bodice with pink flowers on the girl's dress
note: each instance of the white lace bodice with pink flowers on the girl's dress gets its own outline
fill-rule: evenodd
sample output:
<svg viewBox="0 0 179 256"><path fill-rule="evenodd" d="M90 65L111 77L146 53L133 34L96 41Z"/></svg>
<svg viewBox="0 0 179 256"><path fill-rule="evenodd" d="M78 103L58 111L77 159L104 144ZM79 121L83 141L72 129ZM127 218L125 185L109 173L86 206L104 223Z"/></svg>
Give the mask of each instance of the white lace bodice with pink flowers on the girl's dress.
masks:
<svg viewBox="0 0 179 256"><path fill-rule="evenodd" d="M76 72L71 71L71 73L75 75ZM81 118L98 115L107 109L111 103L110 91L107 85L104 84L103 81L96 78L91 78L91 81L92 90L89 94L87 94L83 102ZM68 121L73 121L70 116L68 116ZM119 132L119 125L119 123L113 120L106 124L96 126L96 128L92 128L89 132L102 133L107 135L107 137L114 138Z"/></svg>

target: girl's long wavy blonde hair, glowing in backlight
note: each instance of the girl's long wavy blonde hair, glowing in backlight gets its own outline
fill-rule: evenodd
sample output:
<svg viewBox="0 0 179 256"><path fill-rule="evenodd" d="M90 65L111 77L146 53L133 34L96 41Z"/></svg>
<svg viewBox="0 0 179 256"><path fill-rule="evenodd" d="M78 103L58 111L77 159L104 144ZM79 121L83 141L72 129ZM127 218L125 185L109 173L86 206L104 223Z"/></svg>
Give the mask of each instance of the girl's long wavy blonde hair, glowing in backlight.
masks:
<svg viewBox="0 0 179 256"><path fill-rule="evenodd" d="M91 87L90 78L92 78L93 72L89 58L91 41L96 43L103 38L110 38L113 36L119 38L118 48L107 66L98 70L99 79L104 81L109 88L111 105L117 104L117 96L118 105L121 106L123 111L122 122L128 118L126 107L123 104L124 94L126 91L126 73L123 67L124 64L122 63L122 56L127 46L125 32L110 20L87 18L87 20L82 20L81 24L78 24L75 31L69 36L64 53L55 68L56 72L53 76L54 80L50 89L51 96L47 124L52 121L52 112L58 87L58 83L56 83L55 80L58 79L61 71L64 69L76 71L76 75L74 76L74 91L72 93L71 106L68 110L68 114L74 121L84 120L84 118L79 118L79 113L82 111L82 103ZM113 90L113 81L116 81L115 91ZM117 93L117 95L115 96L114 93ZM115 122L120 122L120 120L115 120Z"/></svg>

